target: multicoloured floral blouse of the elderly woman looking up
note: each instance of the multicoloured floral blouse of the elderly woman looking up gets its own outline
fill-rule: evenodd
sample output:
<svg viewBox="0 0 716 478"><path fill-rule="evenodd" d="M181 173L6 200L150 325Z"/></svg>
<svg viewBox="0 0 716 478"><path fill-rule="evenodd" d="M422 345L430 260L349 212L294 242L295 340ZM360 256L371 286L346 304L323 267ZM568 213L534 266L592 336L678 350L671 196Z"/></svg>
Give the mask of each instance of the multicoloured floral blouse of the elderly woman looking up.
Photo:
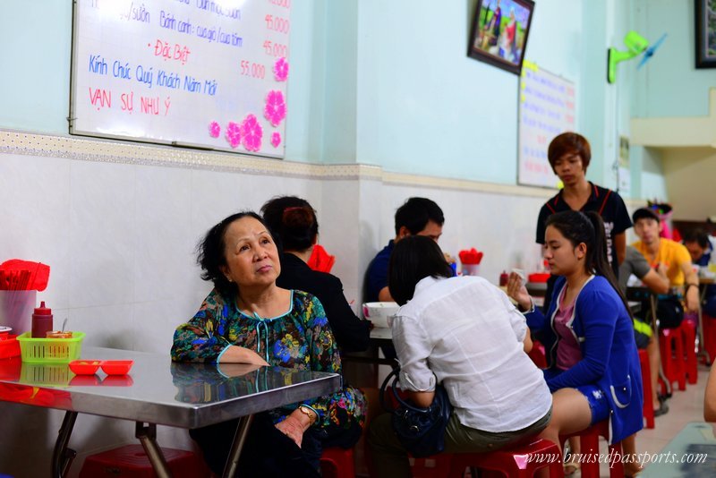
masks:
<svg viewBox="0 0 716 478"><path fill-rule="evenodd" d="M341 373L336 341L326 313L311 294L292 291L291 309L286 314L262 319L239 311L216 289L211 291L192 320L174 334L172 360L218 363L228 346L250 348L270 365L310 371ZM318 414L314 426L349 429L365 422L365 400L357 388L345 387L330 396L305 400ZM300 404L272 410L278 423Z"/></svg>

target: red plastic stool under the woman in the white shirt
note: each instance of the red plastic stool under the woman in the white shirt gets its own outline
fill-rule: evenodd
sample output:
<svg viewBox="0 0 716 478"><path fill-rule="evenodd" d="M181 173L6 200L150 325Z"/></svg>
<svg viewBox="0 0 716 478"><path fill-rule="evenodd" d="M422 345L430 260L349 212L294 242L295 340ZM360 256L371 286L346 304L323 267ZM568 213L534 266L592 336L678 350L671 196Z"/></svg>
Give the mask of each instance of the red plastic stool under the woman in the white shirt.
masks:
<svg viewBox="0 0 716 478"><path fill-rule="evenodd" d="M535 456L540 458L534 459ZM501 472L510 478L529 478L545 466L550 467L550 476L563 474L558 446L541 439L486 453L456 453L450 465L449 478L462 478L468 466Z"/></svg>

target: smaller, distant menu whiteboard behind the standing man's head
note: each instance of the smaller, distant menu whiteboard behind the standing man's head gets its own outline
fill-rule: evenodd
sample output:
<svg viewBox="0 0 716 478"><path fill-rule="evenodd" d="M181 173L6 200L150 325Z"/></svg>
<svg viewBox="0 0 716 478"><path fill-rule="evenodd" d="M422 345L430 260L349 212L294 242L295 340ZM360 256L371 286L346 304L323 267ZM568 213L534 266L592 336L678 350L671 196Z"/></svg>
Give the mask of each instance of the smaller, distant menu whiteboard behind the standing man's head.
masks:
<svg viewBox="0 0 716 478"><path fill-rule="evenodd" d="M567 131L575 131L574 83L525 60L520 75L519 184L557 185L547 148L555 136Z"/></svg>

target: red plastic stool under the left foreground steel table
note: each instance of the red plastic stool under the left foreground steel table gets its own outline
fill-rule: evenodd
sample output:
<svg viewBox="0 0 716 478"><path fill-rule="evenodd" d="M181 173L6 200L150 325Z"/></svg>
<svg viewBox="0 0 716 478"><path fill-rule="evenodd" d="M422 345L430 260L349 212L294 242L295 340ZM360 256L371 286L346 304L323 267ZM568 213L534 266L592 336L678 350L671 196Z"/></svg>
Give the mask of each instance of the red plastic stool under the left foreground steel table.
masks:
<svg viewBox="0 0 716 478"><path fill-rule="evenodd" d="M169 471L175 478L208 477L210 474L203 460L191 451L162 448L162 454L166 458ZM85 458L80 470L80 478L98 476L156 478L157 474L141 445L127 445Z"/></svg>

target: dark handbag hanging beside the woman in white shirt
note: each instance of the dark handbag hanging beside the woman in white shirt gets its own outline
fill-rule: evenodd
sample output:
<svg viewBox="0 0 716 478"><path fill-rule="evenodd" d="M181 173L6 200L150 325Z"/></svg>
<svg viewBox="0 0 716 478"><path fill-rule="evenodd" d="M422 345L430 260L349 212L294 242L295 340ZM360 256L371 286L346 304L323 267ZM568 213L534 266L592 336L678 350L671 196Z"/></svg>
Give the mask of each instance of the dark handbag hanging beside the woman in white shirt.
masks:
<svg viewBox="0 0 716 478"><path fill-rule="evenodd" d="M400 397L397 391L398 372L393 369L380 386L380 405L391 413L390 422L398 440L413 457L429 457L445 449L445 429L453 405L442 385L435 386L435 397L428 408L415 406ZM392 379L392 381L391 381ZM391 394L396 407L386 404L386 395Z"/></svg>

